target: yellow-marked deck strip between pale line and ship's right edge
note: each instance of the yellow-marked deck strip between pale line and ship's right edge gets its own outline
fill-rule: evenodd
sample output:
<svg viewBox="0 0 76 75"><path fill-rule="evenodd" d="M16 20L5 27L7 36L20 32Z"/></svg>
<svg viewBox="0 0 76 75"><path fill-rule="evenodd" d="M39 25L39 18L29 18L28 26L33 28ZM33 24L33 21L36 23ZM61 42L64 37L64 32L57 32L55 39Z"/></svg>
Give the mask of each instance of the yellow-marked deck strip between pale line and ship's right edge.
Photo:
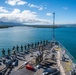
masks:
<svg viewBox="0 0 76 75"><path fill-rule="evenodd" d="M67 53L68 51L66 50L66 48L64 48L61 44L58 45L57 48L54 48L55 50L58 50L59 54L60 54L60 64L62 65L63 68L63 75L73 75L72 71L75 70L75 62L73 62L74 58L73 56L69 56ZM76 74L76 73L75 73ZM75 75L74 74L74 75Z"/></svg>

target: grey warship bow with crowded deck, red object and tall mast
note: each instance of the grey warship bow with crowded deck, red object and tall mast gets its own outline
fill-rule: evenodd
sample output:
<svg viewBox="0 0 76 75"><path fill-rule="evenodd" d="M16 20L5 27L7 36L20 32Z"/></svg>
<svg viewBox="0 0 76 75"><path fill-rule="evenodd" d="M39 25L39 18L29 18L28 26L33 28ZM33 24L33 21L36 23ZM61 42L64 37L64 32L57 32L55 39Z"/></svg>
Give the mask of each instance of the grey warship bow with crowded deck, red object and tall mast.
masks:
<svg viewBox="0 0 76 75"><path fill-rule="evenodd" d="M53 13L52 41L41 41L22 52L13 48L14 54L0 58L0 75L76 75L76 60L55 38L55 13ZM46 36L47 37L47 36Z"/></svg>

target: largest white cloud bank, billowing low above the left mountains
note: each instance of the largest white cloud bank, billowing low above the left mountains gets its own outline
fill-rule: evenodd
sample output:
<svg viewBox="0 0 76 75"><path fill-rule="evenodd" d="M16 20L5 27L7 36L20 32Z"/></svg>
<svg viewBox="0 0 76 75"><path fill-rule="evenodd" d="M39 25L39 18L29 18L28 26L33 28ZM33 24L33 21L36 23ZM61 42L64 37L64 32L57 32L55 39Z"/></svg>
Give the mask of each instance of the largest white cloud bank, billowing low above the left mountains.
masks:
<svg viewBox="0 0 76 75"><path fill-rule="evenodd" d="M38 18L36 12L31 12L30 10L20 11L19 9L14 9L10 13L1 13L0 21L5 22L18 22L18 23L29 23L29 24L49 24L50 21L46 19Z"/></svg>

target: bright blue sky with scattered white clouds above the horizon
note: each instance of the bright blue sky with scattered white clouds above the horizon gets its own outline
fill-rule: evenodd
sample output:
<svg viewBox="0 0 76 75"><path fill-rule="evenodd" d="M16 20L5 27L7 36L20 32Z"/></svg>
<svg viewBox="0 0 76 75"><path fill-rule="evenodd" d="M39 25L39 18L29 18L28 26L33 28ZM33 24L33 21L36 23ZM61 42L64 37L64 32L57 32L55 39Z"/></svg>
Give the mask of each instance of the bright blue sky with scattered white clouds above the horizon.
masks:
<svg viewBox="0 0 76 75"><path fill-rule="evenodd" d="M0 0L0 21L23 24L76 24L76 0Z"/></svg>

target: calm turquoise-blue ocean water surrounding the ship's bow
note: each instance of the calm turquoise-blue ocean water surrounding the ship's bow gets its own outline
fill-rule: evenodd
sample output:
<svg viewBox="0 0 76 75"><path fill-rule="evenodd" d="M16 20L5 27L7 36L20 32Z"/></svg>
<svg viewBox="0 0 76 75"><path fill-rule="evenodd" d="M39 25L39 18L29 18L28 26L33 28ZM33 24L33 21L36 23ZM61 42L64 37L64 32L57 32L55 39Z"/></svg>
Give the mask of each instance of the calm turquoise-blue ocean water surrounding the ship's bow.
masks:
<svg viewBox="0 0 76 75"><path fill-rule="evenodd" d="M68 51L76 58L76 28L55 29L56 40L60 41ZM52 40L51 28L11 27L0 29L0 56L4 48L12 49L13 46L21 46L41 40Z"/></svg>

